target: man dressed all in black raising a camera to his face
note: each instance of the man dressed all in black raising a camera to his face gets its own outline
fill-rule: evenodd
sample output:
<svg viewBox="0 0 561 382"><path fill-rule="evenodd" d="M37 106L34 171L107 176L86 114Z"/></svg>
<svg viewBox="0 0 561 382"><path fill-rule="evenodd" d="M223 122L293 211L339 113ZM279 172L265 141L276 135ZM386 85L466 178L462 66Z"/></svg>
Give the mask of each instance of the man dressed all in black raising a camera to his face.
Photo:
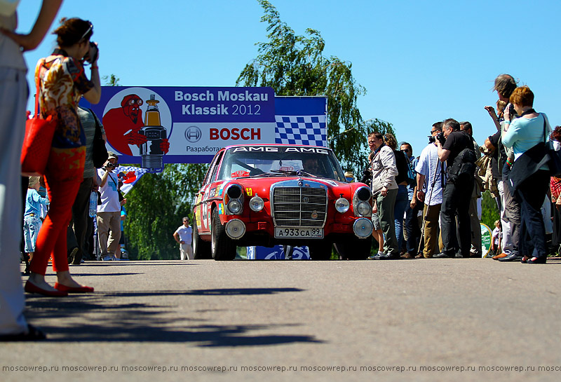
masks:
<svg viewBox="0 0 561 382"><path fill-rule="evenodd" d="M438 146L438 158L441 162L446 161L448 168L448 180L442 193L440 209L444 247L442 252L435 254L434 257L469 257L471 249L469 202L475 173L473 143L468 135L460 131L460 124L453 118L448 118L442 123L442 136L445 139L437 137L436 146Z"/></svg>

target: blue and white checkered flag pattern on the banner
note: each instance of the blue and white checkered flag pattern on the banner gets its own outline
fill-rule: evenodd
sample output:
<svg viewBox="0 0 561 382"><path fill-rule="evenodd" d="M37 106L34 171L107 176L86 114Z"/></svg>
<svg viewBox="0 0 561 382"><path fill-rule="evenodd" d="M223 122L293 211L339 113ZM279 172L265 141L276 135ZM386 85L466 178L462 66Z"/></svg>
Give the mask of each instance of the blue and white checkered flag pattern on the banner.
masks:
<svg viewBox="0 0 561 382"><path fill-rule="evenodd" d="M275 142L327 147L325 116L275 116Z"/></svg>

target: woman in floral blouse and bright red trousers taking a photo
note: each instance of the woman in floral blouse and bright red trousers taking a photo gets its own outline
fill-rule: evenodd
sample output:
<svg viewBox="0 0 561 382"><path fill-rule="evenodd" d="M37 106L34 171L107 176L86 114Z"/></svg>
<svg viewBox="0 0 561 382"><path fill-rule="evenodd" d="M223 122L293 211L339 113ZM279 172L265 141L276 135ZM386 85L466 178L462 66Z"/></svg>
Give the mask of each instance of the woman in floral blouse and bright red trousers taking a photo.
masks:
<svg viewBox="0 0 561 382"><path fill-rule="evenodd" d="M35 78L39 82L39 109L42 118L52 116L55 135L50 147L45 182L50 207L39 236L35 255L29 266L32 272L25 291L47 296L93 292L80 285L69 273L67 261L67 226L72 205L82 181L86 158L86 137L76 111L83 97L92 104L100 101L98 50L90 43L91 22L79 18L63 18L54 34L58 46L52 55L37 63ZM90 79L84 73L84 62L90 63ZM45 281L49 257L57 274L55 287Z"/></svg>

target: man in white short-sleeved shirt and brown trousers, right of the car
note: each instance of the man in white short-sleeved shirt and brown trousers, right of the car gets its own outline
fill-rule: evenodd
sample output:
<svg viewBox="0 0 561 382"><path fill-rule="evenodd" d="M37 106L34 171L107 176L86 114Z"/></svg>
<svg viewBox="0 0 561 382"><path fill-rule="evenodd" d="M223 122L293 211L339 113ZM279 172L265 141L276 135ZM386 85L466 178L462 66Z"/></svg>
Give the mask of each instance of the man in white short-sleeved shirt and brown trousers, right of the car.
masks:
<svg viewBox="0 0 561 382"><path fill-rule="evenodd" d="M433 124L432 137L442 132L442 122ZM438 147L434 142L429 143L419 156L417 171L417 200L424 202L423 230L424 250L417 255L425 259L433 257L435 245L438 242L438 217L442 205L442 190L444 189L445 163L438 159Z"/></svg>

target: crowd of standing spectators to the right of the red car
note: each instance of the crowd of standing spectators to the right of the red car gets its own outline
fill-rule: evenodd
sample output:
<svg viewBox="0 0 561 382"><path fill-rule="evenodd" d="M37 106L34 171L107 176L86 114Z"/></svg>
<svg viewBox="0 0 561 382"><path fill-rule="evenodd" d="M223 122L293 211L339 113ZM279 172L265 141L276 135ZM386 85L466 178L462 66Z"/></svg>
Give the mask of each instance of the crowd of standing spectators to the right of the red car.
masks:
<svg viewBox="0 0 561 382"><path fill-rule="evenodd" d="M492 128L482 146L473 138L471 123L454 118L433 123L428 145L417 158L407 142L398 151L391 134L368 135L372 178L365 182L372 186L372 236L379 245L368 259L492 252L498 261L544 264L551 248L560 245L561 179L551 176L539 143L560 140L561 128L551 132L546 114L533 108L532 90L518 86L513 76L497 76L493 90L499 100L496 110L485 107ZM484 191L495 198L501 217L488 248L482 247L480 225Z"/></svg>

